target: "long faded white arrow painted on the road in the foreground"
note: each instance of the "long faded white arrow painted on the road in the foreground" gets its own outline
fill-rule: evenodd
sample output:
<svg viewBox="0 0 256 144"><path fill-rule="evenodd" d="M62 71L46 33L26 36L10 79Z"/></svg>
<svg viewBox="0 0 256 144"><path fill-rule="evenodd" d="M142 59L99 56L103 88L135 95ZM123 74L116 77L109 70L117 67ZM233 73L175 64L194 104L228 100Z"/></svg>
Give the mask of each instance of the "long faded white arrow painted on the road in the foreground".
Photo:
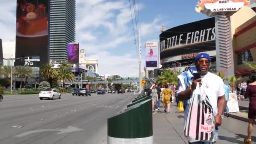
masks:
<svg viewBox="0 0 256 144"><path fill-rule="evenodd" d="M27 136L29 134L33 134L33 133L39 133L39 132L45 132L45 131L60 131L57 134L63 134L63 133L71 133L71 132L75 132L75 131L83 131L84 129L81 128L76 128L73 126L68 126L67 128L56 128L56 129L41 129L41 130L34 130L34 131L27 131L24 133L21 133L19 135L16 135L14 137L16 138L21 138L23 136Z"/></svg>

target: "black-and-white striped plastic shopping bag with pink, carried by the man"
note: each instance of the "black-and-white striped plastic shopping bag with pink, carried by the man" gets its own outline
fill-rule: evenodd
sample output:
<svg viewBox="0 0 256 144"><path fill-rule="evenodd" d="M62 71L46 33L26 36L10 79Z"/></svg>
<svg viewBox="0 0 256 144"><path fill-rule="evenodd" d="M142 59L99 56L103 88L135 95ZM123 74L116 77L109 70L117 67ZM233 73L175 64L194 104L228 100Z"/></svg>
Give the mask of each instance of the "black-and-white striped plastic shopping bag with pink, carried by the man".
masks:
<svg viewBox="0 0 256 144"><path fill-rule="evenodd" d="M192 99L188 107L187 117L184 123L184 135L189 142L213 140L215 122L213 108L204 86L197 83L197 87L192 94Z"/></svg>

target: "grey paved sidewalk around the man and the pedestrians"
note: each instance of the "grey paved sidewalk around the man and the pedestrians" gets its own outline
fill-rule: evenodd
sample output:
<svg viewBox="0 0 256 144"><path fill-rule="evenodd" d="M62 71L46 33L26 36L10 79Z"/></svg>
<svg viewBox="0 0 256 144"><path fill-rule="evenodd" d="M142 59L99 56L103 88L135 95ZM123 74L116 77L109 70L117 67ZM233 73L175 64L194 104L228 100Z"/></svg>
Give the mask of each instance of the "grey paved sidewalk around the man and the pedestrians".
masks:
<svg viewBox="0 0 256 144"><path fill-rule="evenodd" d="M156 112L153 115L154 144L188 144L184 137L184 113L177 110L176 104L171 106L171 114ZM233 119L224 118L219 127L219 140L217 144L243 144L247 135L248 123ZM253 133L253 141L256 141L256 132ZM254 144L254 142L253 142Z"/></svg>

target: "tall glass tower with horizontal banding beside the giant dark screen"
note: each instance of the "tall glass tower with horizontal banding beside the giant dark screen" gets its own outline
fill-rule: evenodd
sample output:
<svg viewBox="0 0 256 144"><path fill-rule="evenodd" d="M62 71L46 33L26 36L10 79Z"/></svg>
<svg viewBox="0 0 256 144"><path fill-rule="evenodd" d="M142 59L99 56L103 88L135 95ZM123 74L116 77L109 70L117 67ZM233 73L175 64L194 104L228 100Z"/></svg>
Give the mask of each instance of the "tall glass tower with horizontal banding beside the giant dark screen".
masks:
<svg viewBox="0 0 256 144"><path fill-rule="evenodd" d="M67 44L75 41L75 0L51 0L49 59L67 61Z"/></svg>

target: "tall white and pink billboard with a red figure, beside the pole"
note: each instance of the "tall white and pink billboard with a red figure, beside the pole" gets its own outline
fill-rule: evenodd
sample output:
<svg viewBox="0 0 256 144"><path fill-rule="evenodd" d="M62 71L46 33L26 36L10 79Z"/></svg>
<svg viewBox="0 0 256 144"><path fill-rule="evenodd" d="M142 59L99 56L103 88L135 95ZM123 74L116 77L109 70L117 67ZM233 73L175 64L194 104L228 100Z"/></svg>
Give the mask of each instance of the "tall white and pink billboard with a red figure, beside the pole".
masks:
<svg viewBox="0 0 256 144"><path fill-rule="evenodd" d="M146 67L157 67L158 43L145 43Z"/></svg>

